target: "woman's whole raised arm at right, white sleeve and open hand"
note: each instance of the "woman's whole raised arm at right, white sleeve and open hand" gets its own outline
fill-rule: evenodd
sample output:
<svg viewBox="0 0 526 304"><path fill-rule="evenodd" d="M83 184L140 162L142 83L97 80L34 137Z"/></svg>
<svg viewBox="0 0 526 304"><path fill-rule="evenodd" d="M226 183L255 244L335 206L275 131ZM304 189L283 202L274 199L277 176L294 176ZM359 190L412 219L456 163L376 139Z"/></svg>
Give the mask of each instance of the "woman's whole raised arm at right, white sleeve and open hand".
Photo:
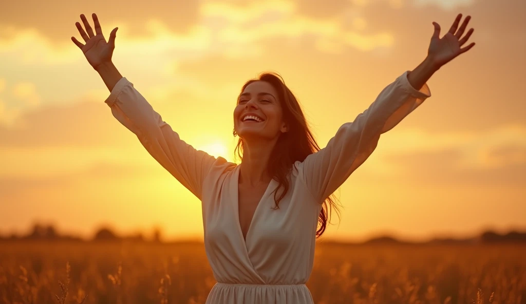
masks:
<svg viewBox="0 0 526 304"><path fill-rule="evenodd" d="M428 56L412 71L406 71L385 87L368 109L351 123L343 124L327 147L313 153L301 163L303 178L318 202L325 200L372 154L380 135L395 127L424 100L431 97L427 80L443 65L466 53L475 43L465 47L473 33L466 29L471 16L459 26L462 14L440 38L440 25L433 22L434 32ZM461 38L462 37L462 38Z"/></svg>

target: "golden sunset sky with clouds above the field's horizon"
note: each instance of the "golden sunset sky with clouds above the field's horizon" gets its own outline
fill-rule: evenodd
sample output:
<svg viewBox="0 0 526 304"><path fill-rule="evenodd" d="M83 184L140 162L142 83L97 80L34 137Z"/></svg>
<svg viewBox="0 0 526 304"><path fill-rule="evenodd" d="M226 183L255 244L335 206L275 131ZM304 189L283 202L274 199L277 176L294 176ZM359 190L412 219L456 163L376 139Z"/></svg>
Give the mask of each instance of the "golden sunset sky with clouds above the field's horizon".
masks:
<svg viewBox="0 0 526 304"><path fill-rule="evenodd" d="M476 45L427 82L431 97L381 136L336 191L326 239L422 240L526 229L526 2L202 0L6 2L0 12L0 233L35 222L92 236L161 227L203 238L200 201L104 103L109 90L72 42L96 13L113 62L181 139L234 158L246 80L279 73L318 144L427 55L458 13ZM467 30L466 30L467 31Z"/></svg>

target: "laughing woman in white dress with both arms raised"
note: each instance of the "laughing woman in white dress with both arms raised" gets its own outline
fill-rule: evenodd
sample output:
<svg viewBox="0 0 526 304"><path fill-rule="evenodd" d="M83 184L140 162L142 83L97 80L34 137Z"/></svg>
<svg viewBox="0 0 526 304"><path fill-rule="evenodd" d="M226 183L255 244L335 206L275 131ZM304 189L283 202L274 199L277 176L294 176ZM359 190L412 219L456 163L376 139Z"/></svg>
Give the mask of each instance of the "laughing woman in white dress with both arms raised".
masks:
<svg viewBox="0 0 526 304"><path fill-rule="evenodd" d="M315 239L325 231L329 196L375 150L380 135L431 96L426 82L441 66L466 52L460 48L468 16L457 31L434 34L428 56L384 88L352 123L343 124L319 149L301 108L282 80L263 74L241 89L234 109L241 164L196 150L181 140L112 63L117 28L108 42L97 16L92 28L76 23L82 49L110 91L105 103L120 123L164 168L201 200L205 249L217 280L207 303L313 303L306 287ZM273 194L273 195L272 195ZM319 224L319 225L318 225ZM319 228L317 229L317 227Z"/></svg>

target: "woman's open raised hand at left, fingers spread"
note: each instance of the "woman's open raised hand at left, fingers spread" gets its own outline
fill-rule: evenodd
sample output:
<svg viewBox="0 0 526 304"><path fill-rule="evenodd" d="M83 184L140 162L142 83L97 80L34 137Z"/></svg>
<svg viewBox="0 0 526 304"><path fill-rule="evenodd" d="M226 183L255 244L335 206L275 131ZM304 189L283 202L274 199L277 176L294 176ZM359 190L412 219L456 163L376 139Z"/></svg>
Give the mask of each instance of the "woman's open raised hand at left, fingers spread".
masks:
<svg viewBox="0 0 526 304"><path fill-rule="evenodd" d="M75 37L71 37L71 39L80 49L82 49L84 56L86 56L86 59L88 59L88 63L94 69L97 69L100 64L112 62L113 50L115 49L115 35L117 33L118 27L114 28L112 33L109 34L109 40L106 43L106 39L102 34L102 29L100 28L97 15L94 13L92 14L92 17L95 24L96 35L93 34L93 29L89 26L84 14L80 14L80 19L82 19L88 34L86 35L86 32L84 32L84 29L80 23L76 22L75 25L78 28L80 36L84 38L86 44L84 45L80 43Z"/></svg>

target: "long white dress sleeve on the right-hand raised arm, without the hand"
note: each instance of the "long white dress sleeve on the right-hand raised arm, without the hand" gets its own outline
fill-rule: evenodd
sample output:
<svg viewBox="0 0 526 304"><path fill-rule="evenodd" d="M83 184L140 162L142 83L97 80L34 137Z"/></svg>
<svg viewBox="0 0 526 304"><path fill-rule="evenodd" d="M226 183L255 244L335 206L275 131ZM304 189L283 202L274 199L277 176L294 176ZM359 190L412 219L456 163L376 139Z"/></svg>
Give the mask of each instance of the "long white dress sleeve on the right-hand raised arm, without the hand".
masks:
<svg viewBox="0 0 526 304"><path fill-rule="evenodd" d="M300 164L302 178L317 202L322 202L372 154L382 133L431 97L426 84L420 90L411 86L409 71L385 87L375 102L351 123L343 124L325 148Z"/></svg>

